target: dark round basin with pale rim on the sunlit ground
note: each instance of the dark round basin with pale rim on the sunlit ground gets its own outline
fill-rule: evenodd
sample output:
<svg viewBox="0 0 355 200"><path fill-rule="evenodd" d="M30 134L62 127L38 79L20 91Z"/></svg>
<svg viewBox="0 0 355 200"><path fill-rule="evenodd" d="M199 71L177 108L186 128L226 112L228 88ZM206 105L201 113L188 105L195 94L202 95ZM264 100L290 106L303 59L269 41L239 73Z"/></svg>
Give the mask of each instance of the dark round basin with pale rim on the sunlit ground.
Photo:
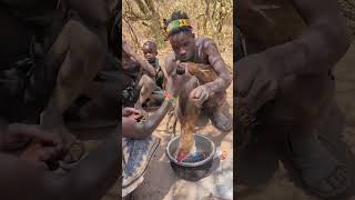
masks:
<svg viewBox="0 0 355 200"><path fill-rule="evenodd" d="M195 133L195 142L197 151L206 152L207 157L199 162L181 162L178 163L175 159L175 152L179 146L180 136L174 137L166 146L166 154L170 159L170 164L174 173L189 181L197 181L206 177L213 163L213 158L215 154L214 142L200 133Z"/></svg>

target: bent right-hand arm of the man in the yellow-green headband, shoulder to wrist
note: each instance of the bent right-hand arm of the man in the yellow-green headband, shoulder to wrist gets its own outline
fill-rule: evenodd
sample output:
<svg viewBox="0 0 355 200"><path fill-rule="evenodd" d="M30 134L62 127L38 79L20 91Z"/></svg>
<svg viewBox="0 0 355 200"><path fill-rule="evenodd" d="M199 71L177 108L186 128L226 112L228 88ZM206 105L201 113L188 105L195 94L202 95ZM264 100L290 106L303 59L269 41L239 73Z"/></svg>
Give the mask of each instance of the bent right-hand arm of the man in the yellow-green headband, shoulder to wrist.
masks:
<svg viewBox="0 0 355 200"><path fill-rule="evenodd" d="M216 80L204 86L207 88L209 93L224 91L232 83L230 71L214 42L209 42L204 48L211 66L219 76Z"/></svg>

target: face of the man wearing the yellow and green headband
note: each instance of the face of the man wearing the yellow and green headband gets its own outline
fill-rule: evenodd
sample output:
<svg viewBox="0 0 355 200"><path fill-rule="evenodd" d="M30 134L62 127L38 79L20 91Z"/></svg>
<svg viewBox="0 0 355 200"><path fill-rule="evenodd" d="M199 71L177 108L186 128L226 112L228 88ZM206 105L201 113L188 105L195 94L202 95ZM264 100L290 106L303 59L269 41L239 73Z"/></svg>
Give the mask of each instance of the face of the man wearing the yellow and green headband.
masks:
<svg viewBox="0 0 355 200"><path fill-rule="evenodd" d="M195 54L195 36L191 32L179 32L169 38L175 57L181 61L191 61Z"/></svg>

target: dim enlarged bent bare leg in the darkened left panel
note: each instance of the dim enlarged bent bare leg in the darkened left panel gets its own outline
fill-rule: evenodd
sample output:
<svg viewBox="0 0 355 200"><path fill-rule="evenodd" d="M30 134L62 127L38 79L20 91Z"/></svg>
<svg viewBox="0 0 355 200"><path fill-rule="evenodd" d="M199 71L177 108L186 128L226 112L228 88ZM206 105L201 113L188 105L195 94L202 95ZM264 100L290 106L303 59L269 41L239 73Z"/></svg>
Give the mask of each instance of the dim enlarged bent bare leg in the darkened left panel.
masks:
<svg viewBox="0 0 355 200"><path fill-rule="evenodd" d="M65 128L63 113L87 89L106 54L105 43L83 23L70 20L50 50L50 58L64 56L52 98L41 116L41 124L62 136L70 144L74 137ZM61 59L60 59L61 60Z"/></svg>

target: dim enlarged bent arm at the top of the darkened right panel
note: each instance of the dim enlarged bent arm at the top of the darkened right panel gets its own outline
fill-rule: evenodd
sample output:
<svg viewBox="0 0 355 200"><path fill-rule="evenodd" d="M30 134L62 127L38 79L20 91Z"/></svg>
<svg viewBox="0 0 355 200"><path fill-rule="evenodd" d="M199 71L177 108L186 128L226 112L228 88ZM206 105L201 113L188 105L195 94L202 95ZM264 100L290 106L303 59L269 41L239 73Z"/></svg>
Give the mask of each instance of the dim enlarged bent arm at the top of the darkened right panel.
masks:
<svg viewBox="0 0 355 200"><path fill-rule="evenodd" d="M282 73L331 70L349 46L341 9L335 0L293 0L308 29L297 40L265 51L284 66Z"/></svg>

